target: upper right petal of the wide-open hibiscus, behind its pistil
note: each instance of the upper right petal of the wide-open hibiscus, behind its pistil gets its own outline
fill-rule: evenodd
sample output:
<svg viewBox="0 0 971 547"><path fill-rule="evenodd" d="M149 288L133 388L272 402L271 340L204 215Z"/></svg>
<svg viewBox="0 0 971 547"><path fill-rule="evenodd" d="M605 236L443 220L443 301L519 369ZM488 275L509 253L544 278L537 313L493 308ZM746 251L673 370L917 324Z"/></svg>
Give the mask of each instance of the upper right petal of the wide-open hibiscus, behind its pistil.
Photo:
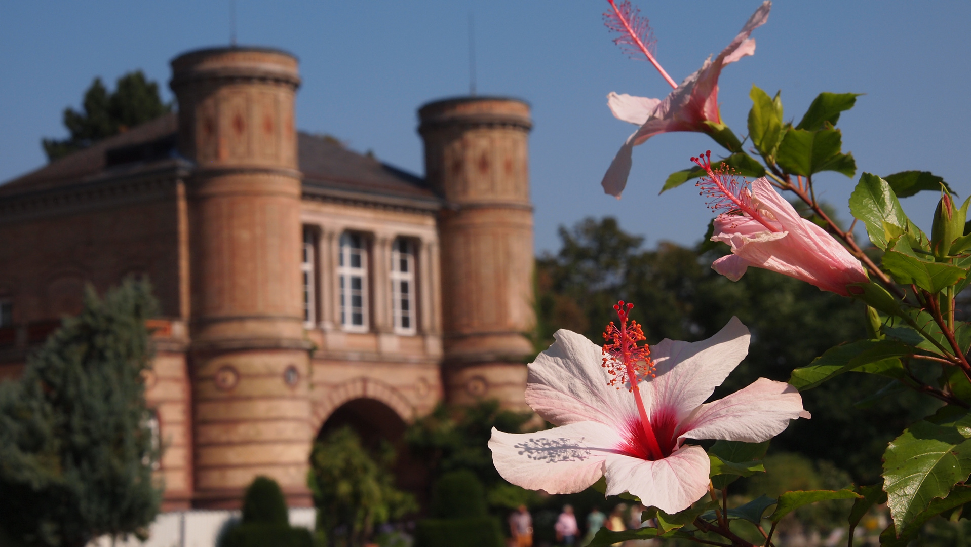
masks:
<svg viewBox="0 0 971 547"><path fill-rule="evenodd" d="M737 317L700 342L665 338L651 346L656 378L641 383L650 415L681 421L715 393L728 373L749 354L749 329ZM629 398L629 397L628 397Z"/></svg>

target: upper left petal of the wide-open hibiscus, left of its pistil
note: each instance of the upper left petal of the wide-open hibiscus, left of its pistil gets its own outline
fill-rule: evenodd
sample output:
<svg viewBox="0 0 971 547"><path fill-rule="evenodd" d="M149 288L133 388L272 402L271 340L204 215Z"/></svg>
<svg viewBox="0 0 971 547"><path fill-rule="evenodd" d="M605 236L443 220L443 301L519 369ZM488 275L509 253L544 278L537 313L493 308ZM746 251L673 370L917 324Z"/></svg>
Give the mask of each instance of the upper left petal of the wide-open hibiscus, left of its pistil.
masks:
<svg viewBox="0 0 971 547"><path fill-rule="evenodd" d="M608 383L600 346L560 329L550 349L528 366L526 404L555 426L577 422L622 424L637 416L634 398Z"/></svg>

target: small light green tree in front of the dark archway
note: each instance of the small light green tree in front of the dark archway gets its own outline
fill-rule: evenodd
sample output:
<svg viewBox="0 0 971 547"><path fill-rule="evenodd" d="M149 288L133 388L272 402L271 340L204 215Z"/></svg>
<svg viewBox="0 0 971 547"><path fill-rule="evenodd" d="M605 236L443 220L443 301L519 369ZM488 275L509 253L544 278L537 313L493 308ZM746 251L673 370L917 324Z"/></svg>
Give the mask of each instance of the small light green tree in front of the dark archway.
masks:
<svg viewBox="0 0 971 547"><path fill-rule="evenodd" d="M358 547L375 526L418 510L414 496L394 487L394 450L385 444L379 452L369 454L351 427L314 445L309 483L327 545Z"/></svg>

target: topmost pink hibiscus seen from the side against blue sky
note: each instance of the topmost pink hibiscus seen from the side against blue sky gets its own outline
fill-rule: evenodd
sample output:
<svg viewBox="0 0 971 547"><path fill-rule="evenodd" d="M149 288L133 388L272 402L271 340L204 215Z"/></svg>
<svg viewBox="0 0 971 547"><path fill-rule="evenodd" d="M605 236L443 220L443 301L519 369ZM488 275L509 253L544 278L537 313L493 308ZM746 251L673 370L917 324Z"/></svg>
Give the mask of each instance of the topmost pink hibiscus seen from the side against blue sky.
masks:
<svg viewBox="0 0 971 547"><path fill-rule="evenodd" d="M749 38L749 36L755 28L769 19L771 8L772 2L770 0L762 2L762 5L755 10L752 17L749 17L738 36L715 57L714 61L711 57L705 59L697 72L688 76L663 100L618 94L613 91L607 95L607 105L614 116L618 120L640 125L640 128L627 138L614 157L614 161L611 162L610 168L607 169L607 173L600 183L605 193L620 197L620 192L627 186L631 153L635 146L659 133L671 131L709 133L712 128L706 121L721 123L719 113L719 76L721 69L726 64L733 63L755 52L755 40ZM615 10L617 11L616 8ZM623 16L618 11L616 17ZM653 55L647 49L644 53L666 77L667 74L660 69L660 65L653 59ZM665 79L671 82L670 77Z"/></svg>

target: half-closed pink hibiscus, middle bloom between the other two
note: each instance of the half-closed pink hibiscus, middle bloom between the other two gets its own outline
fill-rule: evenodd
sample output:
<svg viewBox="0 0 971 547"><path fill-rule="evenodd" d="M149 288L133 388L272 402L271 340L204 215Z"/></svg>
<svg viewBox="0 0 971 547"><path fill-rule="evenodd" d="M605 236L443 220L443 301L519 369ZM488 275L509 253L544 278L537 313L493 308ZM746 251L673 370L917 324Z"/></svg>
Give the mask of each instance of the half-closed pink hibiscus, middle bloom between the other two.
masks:
<svg viewBox="0 0 971 547"><path fill-rule="evenodd" d="M712 241L731 247L731 255L712 264L715 271L738 281L749 266L765 268L849 296L847 285L868 283L863 265L826 230L796 213L772 188L756 179L750 190L728 173L712 171L711 152L692 161L708 176L698 183L708 205L721 214Z"/></svg>

